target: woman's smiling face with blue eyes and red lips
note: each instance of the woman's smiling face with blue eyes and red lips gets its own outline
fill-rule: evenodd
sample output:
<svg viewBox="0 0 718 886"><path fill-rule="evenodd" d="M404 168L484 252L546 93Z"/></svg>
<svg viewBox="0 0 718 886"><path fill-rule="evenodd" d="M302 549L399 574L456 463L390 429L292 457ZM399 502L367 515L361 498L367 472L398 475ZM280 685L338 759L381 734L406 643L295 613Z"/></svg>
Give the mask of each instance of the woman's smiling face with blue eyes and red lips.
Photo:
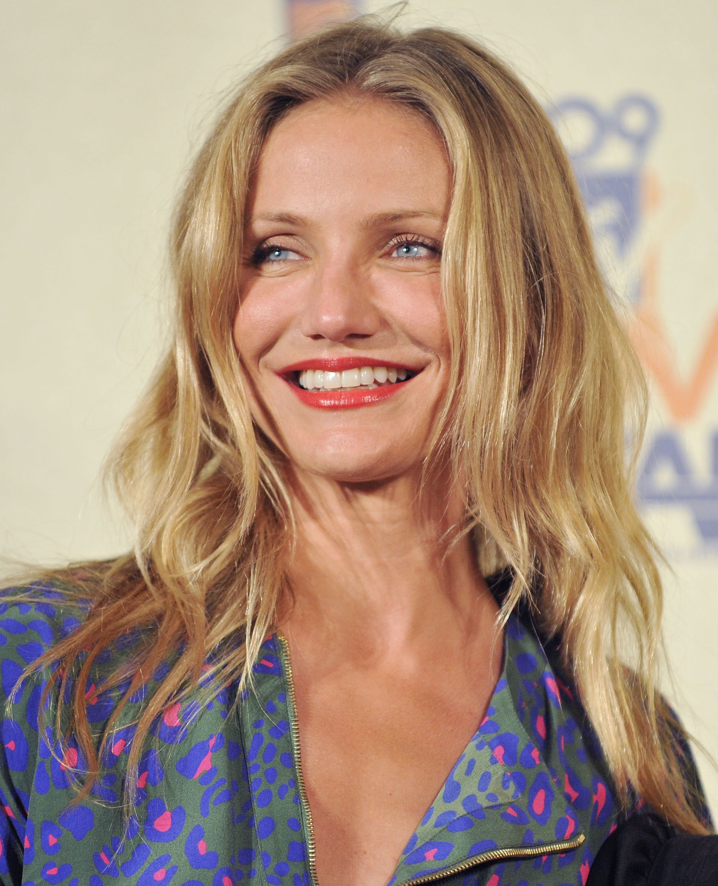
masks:
<svg viewBox="0 0 718 886"><path fill-rule="evenodd" d="M450 186L434 128L389 102L315 101L268 136L234 339L252 414L298 471L421 466L449 376Z"/></svg>

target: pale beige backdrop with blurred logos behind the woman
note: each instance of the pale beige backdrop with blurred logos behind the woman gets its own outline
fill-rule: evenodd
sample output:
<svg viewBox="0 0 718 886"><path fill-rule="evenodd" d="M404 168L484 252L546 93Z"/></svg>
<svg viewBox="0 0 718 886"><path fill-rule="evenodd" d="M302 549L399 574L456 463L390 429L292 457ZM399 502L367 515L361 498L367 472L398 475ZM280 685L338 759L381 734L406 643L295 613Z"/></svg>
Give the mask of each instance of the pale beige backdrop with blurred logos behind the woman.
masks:
<svg viewBox="0 0 718 886"><path fill-rule="evenodd" d="M381 4L364 6L374 11ZM0 553L112 556L97 473L161 348L174 194L218 93L286 31L350 0L0 6ZM684 0L424 0L563 109L606 273L652 378L639 501L668 554L688 726L718 756L718 7ZM714 809L718 776L700 759Z"/></svg>

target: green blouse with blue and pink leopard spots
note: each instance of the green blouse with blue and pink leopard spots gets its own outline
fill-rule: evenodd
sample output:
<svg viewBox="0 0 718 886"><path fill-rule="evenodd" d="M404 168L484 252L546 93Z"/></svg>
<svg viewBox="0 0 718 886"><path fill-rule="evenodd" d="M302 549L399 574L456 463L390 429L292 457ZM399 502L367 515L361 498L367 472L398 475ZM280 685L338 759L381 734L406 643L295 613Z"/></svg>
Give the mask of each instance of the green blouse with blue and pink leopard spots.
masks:
<svg viewBox="0 0 718 886"><path fill-rule="evenodd" d="M44 602L0 606L0 882L317 886L282 636L262 648L253 691L237 699L228 687L210 703L175 704L158 720L126 830L119 800L143 692L121 715L101 781L79 803L70 779L82 767L77 745L71 739L63 755L50 727L38 727L41 677L25 680L5 707L27 664L81 618L57 591L43 594ZM512 617L505 638L488 713L417 822L390 886L582 886L620 818L575 692L529 626ZM97 667L108 672L122 654L108 652ZM98 728L119 691L103 693L101 680L98 671L88 685L89 720Z"/></svg>

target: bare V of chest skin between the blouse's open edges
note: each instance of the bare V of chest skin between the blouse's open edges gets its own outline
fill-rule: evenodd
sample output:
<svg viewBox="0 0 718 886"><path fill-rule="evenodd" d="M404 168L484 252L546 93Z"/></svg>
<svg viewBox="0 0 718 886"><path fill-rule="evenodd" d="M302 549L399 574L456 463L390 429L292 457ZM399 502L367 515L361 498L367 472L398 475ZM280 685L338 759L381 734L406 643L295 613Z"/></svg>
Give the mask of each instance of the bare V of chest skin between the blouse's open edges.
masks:
<svg viewBox="0 0 718 886"><path fill-rule="evenodd" d="M494 680L344 672L299 681L320 886L383 886L489 704Z"/></svg>

